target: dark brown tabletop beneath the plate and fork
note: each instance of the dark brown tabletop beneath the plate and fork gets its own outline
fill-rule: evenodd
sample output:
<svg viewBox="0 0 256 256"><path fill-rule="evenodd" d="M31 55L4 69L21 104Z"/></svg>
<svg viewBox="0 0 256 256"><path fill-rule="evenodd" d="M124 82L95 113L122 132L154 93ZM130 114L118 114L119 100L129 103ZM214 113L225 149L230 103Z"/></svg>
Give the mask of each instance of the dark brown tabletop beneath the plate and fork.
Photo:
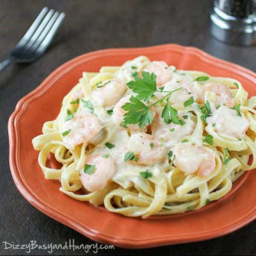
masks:
<svg viewBox="0 0 256 256"><path fill-rule="evenodd" d="M0 0L0 60L3 60L44 6L66 13L47 53L30 65L12 65L0 73L0 254L3 241L27 244L94 242L47 217L17 191L9 171L7 121L17 101L35 89L59 65L96 49L177 43L256 70L256 48L222 44L210 35L209 0ZM40 110L39 114L40 114ZM26 157L26 156L24 156ZM168 227L166 227L168 228ZM190 244L143 250L99 250L98 255L255 255L256 222L230 235ZM46 255L47 250L31 254ZM53 250L52 255L84 255L84 250ZM93 249L88 255L93 255Z"/></svg>

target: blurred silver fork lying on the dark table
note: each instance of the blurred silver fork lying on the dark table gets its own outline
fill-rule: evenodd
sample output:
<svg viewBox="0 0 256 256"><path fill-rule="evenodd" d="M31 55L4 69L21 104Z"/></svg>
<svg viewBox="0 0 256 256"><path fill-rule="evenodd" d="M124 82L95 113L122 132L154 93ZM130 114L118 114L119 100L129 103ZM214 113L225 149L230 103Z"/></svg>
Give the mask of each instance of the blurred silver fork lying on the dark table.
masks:
<svg viewBox="0 0 256 256"><path fill-rule="evenodd" d="M52 42L64 12L55 12L44 7L29 30L10 53L9 58L0 63L0 72L10 63L30 63L40 57Z"/></svg>

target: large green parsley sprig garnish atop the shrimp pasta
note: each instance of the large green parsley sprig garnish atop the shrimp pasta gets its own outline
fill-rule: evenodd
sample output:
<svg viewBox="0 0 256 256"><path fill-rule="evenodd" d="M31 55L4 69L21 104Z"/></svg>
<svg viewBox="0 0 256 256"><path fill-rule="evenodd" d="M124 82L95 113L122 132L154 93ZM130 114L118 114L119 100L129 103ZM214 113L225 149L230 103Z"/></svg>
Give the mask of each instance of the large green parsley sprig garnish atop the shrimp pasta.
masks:
<svg viewBox="0 0 256 256"><path fill-rule="evenodd" d="M124 125L131 125L139 123L139 127L143 127L147 124L151 124L153 122L153 115L150 111L150 108L156 105L159 102L163 102L163 99L167 98L166 106L163 109L162 117L164 121L168 124L171 121L175 124L183 125L184 121L180 120L177 116L177 110L172 108L169 103L169 97L172 93L176 92L177 90L181 90L182 87L177 88L176 90L172 91L164 91L163 89L157 89L156 79L157 76L154 73L149 72L142 72L143 78L138 76L135 77L135 81L130 81L127 83L127 86L133 90L134 93L137 93L137 96L131 96L130 102L125 103L122 106L122 109L128 111L124 114ZM145 105L142 100L148 102L151 97L154 95L155 92L165 92L167 93L161 99L157 100L156 102L152 103L151 105Z"/></svg>

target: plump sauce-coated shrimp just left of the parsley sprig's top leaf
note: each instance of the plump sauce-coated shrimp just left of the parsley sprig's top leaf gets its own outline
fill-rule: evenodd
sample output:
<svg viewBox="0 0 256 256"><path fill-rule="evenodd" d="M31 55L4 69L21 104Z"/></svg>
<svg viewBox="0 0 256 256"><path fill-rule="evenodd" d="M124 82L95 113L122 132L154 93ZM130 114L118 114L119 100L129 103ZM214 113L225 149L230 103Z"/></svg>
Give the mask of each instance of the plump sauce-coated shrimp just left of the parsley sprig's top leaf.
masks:
<svg viewBox="0 0 256 256"><path fill-rule="evenodd" d="M111 107L116 104L127 90L126 84L117 78L103 81L99 86L93 90L93 99L103 107Z"/></svg>

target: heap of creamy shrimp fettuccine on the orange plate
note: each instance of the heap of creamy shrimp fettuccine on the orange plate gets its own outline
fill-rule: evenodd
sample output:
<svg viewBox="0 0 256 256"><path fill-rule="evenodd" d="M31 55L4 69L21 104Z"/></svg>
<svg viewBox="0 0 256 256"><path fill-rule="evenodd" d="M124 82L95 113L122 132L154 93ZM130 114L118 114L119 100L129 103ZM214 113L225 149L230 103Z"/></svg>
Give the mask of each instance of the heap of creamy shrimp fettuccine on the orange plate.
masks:
<svg viewBox="0 0 256 256"><path fill-rule="evenodd" d="M157 89L143 98L150 81ZM144 107L128 112L133 96L133 108ZM129 217L182 213L222 198L255 169L254 108L256 97L235 79L139 56L84 72L32 144L44 177L76 200ZM61 169L47 167L50 153Z"/></svg>

